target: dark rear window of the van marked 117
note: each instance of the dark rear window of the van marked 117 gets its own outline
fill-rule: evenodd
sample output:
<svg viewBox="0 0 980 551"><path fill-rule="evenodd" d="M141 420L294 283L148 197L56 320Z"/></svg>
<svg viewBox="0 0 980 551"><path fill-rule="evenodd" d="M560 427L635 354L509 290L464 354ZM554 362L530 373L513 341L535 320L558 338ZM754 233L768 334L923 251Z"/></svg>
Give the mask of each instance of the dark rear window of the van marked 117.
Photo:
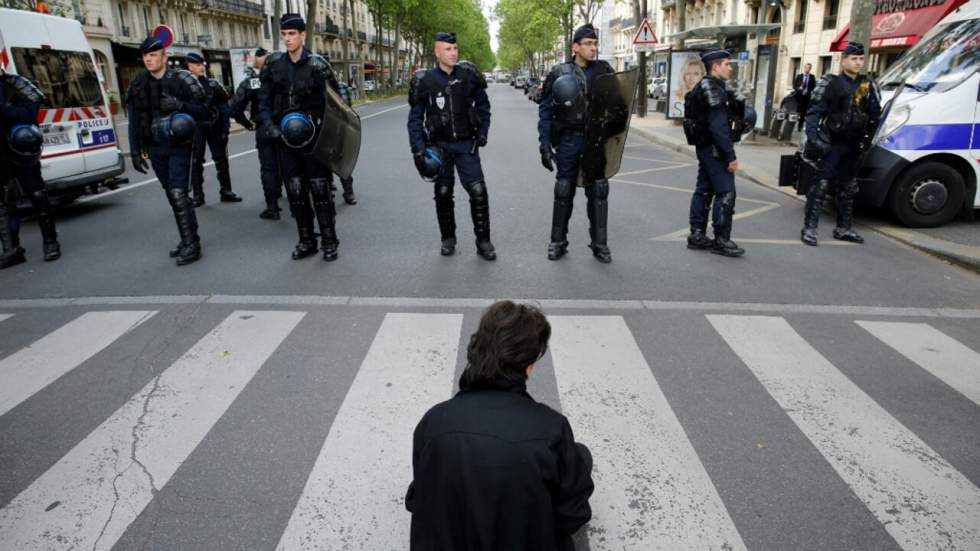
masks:
<svg viewBox="0 0 980 551"><path fill-rule="evenodd" d="M44 92L44 107L102 105L102 85L86 52L11 48L17 72Z"/></svg>

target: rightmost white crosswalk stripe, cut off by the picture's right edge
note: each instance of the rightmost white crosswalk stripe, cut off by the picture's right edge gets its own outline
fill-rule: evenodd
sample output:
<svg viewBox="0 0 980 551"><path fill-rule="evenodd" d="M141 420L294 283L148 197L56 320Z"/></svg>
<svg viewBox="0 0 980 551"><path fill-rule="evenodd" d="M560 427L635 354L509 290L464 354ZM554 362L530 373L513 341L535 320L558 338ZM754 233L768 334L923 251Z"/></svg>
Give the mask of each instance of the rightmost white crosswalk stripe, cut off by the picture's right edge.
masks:
<svg viewBox="0 0 980 551"><path fill-rule="evenodd" d="M980 405L980 353L925 323L854 323Z"/></svg>

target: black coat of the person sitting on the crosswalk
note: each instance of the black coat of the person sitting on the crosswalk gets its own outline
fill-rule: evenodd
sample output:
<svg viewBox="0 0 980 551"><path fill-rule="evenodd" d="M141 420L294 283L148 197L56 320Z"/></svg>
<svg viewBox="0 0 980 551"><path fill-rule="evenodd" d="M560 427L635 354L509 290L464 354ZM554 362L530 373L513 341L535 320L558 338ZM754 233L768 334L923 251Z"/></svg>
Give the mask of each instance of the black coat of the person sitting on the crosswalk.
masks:
<svg viewBox="0 0 980 551"><path fill-rule="evenodd" d="M524 384L469 388L415 428L412 551L565 551L592 518L592 458Z"/></svg>

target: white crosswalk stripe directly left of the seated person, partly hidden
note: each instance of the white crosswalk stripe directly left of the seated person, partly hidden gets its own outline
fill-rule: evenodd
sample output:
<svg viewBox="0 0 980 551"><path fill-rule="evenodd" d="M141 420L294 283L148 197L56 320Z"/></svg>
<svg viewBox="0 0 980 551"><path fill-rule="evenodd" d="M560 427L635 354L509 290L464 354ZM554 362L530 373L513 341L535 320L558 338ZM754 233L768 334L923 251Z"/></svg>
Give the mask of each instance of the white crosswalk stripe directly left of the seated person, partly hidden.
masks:
<svg viewBox="0 0 980 551"><path fill-rule="evenodd" d="M385 316L277 549L405 547L413 429L452 395L462 324L462 314Z"/></svg>

